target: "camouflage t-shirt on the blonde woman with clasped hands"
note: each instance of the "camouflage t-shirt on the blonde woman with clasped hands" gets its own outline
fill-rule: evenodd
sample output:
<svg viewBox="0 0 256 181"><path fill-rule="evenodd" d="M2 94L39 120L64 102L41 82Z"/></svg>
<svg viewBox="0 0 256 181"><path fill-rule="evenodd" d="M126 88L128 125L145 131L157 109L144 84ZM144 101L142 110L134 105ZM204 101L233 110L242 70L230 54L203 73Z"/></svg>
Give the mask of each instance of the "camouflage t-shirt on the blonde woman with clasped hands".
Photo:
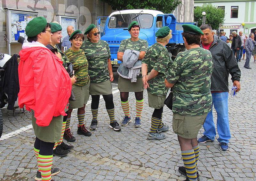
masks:
<svg viewBox="0 0 256 181"><path fill-rule="evenodd" d="M148 92L156 95L167 95L168 88L165 87L164 79L167 76L168 64L172 64L167 49L160 43L152 45L146 53L142 64L148 65L148 74L152 69L159 72L156 77L148 81Z"/></svg>

